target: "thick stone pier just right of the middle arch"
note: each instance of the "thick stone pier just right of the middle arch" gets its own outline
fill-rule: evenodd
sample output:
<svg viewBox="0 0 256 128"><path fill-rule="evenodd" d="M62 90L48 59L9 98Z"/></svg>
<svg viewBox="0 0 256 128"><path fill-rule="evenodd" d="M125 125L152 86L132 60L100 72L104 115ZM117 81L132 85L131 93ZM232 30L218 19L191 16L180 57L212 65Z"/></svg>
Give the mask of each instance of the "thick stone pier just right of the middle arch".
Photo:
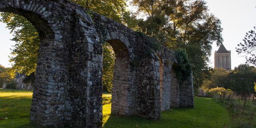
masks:
<svg viewBox="0 0 256 128"><path fill-rule="evenodd" d="M135 115L144 118L160 118L160 63L158 59L142 58L137 68Z"/></svg>

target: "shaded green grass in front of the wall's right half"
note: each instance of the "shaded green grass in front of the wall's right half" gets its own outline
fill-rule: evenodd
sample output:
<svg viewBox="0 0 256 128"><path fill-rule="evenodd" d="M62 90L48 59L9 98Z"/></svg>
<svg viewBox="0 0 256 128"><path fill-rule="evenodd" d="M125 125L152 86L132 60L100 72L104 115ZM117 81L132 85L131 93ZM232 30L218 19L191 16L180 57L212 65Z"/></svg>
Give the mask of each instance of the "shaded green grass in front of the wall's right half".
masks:
<svg viewBox="0 0 256 128"><path fill-rule="evenodd" d="M158 121L110 116L104 128L226 128L228 111L210 98L195 97L195 106L162 112Z"/></svg>

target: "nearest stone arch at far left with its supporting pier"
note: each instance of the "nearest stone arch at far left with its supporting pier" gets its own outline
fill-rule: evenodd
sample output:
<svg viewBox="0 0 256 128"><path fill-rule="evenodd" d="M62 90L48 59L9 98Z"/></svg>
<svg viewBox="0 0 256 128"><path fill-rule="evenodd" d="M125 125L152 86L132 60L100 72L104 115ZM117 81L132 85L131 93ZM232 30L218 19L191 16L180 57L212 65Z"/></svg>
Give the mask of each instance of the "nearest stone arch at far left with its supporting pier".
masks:
<svg viewBox="0 0 256 128"><path fill-rule="evenodd" d="M35 87L30 122L41 126L63 126L66 60L62 32L50 10L54 2L38 0L1 0L0 12L24 16L40 36Z"/></svg>

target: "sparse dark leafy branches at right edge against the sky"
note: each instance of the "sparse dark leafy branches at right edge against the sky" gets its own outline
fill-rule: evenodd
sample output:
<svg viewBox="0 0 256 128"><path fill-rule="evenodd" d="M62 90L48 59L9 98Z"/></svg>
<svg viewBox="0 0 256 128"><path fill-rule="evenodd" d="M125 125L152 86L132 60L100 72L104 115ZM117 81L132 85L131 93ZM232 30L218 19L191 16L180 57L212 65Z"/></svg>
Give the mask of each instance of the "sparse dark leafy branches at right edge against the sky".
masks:
<svg viewBox="0 0 256 128"><path fill-rule="evenodd" d="M238 44L238 48L236 48L236 52L240 56L245 56L246 63L251 63L256 66L256 27L254 26L254 30L250 30L246 32L246 35L243 39L243 43L240 42ZM249 58L248 58L249 56Z"/></svg>

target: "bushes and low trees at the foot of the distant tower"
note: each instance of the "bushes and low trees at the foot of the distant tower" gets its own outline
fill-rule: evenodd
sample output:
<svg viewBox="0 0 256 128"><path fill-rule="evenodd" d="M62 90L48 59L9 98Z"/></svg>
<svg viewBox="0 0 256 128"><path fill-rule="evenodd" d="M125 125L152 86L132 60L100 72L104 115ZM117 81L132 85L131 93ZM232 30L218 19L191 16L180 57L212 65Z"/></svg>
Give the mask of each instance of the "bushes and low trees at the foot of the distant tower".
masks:
<svg viewBox="0 0 256 128"><path fill-rule="evenodd" d="M211 71L211 77L204 80L202 89L207 92L211 88L222 87L231 89L245 99L255 93L256 68L248 64L240 64L231 72L223 68Z"/></svg>

